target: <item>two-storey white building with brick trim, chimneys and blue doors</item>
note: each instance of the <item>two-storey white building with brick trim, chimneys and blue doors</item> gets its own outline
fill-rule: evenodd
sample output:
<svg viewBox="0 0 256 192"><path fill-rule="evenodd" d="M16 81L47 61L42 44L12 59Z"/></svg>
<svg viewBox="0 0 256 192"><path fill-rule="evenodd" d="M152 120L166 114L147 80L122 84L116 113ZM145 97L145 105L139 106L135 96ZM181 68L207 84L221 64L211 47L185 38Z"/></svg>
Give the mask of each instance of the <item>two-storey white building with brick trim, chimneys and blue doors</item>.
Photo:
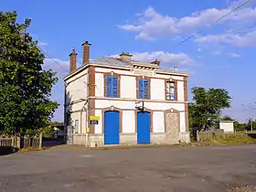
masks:
<svg viewBox="0 0 256 192"><path fill-rule="evenodd" d="M120 58L89 60L83 45L82 66L69 55L65 78L65 129L68 144L189 143L187 77L177 69Z"/></svg>

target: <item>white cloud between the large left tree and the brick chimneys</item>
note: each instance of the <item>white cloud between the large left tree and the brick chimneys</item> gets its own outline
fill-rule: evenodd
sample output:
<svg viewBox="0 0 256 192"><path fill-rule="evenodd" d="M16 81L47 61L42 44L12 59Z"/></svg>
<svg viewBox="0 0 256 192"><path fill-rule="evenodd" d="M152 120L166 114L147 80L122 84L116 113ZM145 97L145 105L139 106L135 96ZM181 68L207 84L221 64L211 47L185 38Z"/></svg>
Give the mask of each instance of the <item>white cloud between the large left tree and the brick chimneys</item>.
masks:
<svg viewBox="0 0 256 192"><path fill-rule="evenodd" d="M69 60L44 59L43 69L52 69L59 78L64 78L69 74Z"/></svg>

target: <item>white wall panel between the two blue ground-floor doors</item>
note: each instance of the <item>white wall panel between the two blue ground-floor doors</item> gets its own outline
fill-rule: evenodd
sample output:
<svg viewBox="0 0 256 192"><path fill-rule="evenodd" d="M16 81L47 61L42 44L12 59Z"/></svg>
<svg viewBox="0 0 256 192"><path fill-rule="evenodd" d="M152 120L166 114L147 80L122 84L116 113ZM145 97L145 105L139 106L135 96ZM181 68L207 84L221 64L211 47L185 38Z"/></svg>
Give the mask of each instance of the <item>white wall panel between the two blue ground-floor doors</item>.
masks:
<svg viewBox="0 0 256 192"><path fill-rule="evenodd" d="M134 111L123 111L123 133L135 133Z"/></svg>

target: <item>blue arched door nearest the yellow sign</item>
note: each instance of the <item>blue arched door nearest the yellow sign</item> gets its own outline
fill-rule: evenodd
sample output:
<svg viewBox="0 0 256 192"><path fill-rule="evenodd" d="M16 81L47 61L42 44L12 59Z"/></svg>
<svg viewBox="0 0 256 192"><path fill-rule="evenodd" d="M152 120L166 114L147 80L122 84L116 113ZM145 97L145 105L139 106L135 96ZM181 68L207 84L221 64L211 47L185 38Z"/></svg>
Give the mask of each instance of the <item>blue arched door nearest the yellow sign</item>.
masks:
<svg viewBox="0 0 256 192"><path fill-rule="evenodd" d="M104 144L119 144L119 112L104 114Z"/></svg>

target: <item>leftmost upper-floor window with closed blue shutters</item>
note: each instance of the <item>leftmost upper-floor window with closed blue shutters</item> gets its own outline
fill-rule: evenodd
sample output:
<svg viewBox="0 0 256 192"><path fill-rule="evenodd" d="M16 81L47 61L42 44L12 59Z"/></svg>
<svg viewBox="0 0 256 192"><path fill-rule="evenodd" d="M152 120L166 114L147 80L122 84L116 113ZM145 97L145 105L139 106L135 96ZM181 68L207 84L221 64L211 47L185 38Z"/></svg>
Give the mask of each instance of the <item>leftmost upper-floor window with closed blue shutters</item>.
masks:
<svg viewBox="0 0 256 192"><path fill-rule="evenodd" d="M117 98L119 92L118 77L107 75L106 76L106 97Z"/></svg>

